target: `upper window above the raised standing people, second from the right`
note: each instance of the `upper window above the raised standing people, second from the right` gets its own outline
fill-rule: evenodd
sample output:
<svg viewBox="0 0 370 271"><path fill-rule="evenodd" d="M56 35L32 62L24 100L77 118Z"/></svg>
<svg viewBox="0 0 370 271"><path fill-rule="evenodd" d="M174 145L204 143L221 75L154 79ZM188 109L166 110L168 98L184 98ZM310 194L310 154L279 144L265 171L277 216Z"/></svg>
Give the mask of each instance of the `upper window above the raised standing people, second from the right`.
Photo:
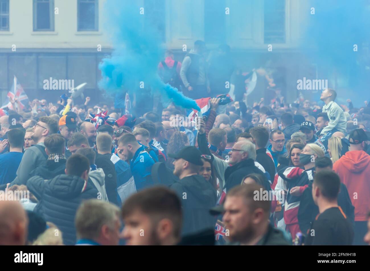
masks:
<svg viewBox="0 0 370 271"><path fill-rule="evenodd" d="M226 43L225 8L225 0L204 1L204 41L206 43Z"/></svg>

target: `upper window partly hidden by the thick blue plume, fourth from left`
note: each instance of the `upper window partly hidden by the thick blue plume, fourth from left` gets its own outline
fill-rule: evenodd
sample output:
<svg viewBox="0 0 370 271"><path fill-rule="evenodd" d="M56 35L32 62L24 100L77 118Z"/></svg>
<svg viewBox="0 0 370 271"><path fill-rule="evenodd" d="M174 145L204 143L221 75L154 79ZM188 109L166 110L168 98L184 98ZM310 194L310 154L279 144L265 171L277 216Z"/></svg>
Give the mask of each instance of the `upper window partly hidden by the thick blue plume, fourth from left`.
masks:
<svg viewBox="0 0 370 271"><path fill-rule="evenodd" d="M159 40L166 41L166 13L164 0L144 0L144 30L153 29L159 35Z"/></svg>

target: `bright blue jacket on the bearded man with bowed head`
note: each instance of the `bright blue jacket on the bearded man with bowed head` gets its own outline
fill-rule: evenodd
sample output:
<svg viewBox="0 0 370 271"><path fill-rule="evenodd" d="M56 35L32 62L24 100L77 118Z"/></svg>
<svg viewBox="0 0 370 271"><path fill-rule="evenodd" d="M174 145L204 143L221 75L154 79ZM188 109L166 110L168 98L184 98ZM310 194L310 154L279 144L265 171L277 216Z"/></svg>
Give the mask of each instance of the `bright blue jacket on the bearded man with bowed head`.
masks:
<svg viewBox="0 0 370 271"><path fill-rule="evenodd" d="M151 170L154 163L154 159L145 151L144 146L141 146L131 159L130 167L137 191L153 185Z"/></svg>

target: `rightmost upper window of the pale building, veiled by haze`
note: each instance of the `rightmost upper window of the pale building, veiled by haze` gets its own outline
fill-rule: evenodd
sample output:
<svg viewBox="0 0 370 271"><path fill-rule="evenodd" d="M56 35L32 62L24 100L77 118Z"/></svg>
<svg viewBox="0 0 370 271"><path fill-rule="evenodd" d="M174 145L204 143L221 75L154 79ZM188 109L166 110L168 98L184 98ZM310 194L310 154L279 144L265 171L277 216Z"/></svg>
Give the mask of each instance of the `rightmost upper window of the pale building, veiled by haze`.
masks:
<svg viewBox="0 0 370 271"><path fill-rule="evenodd" d="M264 43L285 43L285 0L265 0L263 7Z"/></svg>

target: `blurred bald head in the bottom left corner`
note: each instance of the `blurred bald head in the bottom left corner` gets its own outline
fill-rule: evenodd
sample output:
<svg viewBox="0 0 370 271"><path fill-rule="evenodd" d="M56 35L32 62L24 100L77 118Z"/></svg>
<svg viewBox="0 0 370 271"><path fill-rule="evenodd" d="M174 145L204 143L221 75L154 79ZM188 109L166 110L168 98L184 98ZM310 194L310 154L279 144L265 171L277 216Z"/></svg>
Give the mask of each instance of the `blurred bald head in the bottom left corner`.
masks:
<svg viewBox="0 0 370 271"><path fill-rule="evenodd" d="M28 217L19 201L0 201L0 245L25 245Z"/></svg>

